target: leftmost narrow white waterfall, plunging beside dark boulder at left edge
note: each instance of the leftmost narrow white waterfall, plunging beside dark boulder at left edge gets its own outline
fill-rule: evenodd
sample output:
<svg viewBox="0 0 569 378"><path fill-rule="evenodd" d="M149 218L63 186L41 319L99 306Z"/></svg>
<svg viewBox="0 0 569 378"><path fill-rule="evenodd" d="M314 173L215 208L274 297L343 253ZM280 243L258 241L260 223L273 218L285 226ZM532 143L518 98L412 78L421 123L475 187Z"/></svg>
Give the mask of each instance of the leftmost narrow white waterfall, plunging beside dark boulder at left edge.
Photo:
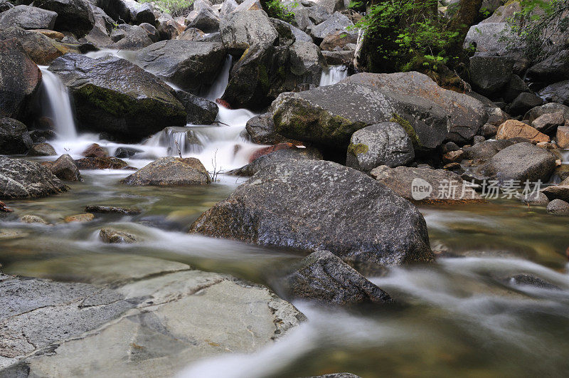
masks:
<svg viewBox="0 0 569 378"><path fill-rule="evenodd" d="M77 137L73 110L67 87L47 66L40 66L41 85L46 100L42 107L43 113L53 120L55 132L60 140L70 140Z"/></svg>

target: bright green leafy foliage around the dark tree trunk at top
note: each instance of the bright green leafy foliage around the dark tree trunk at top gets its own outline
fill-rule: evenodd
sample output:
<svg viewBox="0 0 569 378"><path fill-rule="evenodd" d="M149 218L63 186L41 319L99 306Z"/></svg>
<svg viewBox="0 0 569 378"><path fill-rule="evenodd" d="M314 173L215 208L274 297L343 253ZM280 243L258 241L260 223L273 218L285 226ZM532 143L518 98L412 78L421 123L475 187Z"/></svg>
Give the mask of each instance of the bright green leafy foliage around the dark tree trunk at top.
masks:
<svg viewBox="0 0 569 378"><path fill-rule="evenodd" d="M368 51L375 56L369 70L437 70L441 63L453 63L449 47L460 33L437 13L436 0L385 0L371 9L356 27L366 33Z"/></svg>

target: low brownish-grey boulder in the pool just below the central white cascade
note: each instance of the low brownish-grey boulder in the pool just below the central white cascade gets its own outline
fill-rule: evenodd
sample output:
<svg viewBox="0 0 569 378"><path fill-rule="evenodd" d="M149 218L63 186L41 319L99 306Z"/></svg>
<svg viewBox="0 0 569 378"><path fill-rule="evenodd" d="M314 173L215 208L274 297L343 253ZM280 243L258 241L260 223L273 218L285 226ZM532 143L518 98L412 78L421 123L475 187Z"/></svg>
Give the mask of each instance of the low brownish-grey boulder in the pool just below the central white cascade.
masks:
<svg viewBox="0 0 569 378"><path fill-rule="evenodd" d="M174 186L211 184L211 177L201 162L190 157L161 157L120 180L137 186Z"/></svg>

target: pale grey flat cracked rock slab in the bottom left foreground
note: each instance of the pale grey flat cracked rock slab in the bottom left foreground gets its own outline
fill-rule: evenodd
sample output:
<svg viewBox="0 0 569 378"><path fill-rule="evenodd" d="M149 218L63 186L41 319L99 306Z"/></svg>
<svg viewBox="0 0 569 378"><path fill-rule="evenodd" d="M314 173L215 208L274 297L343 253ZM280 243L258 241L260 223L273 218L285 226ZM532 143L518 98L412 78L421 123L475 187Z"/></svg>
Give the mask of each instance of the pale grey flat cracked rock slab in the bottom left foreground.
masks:
<svg viewBox="0 0 569 378"><path fill-rule="evenodd" d="M10 281L23 290L0 300L25 304L2 314L8 327L1 332L13 335L3 337L0 375L173 376L197 359L255 352L305 319L267 288L218 273L165 273L116 290L38 279L30 286L23 278L0 277L0 290ZM44 286L51 291L36 290ZM67 328L71 332L56 333ZM31 336L19 332L28 329Z"/></svg>

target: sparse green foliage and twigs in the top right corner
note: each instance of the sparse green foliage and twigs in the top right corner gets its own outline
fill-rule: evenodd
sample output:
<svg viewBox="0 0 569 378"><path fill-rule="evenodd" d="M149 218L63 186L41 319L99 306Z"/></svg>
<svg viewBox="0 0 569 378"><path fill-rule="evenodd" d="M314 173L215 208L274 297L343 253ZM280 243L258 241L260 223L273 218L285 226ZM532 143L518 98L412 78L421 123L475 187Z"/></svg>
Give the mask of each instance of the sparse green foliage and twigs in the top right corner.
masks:
<svg viewBox="0 0 569 378"><path fill-rule="evenodd" d="M512 33L510 46L523 46L531 60L541 60L569 47L568 0L521 0L521 11L507 22Z"/></svg>

